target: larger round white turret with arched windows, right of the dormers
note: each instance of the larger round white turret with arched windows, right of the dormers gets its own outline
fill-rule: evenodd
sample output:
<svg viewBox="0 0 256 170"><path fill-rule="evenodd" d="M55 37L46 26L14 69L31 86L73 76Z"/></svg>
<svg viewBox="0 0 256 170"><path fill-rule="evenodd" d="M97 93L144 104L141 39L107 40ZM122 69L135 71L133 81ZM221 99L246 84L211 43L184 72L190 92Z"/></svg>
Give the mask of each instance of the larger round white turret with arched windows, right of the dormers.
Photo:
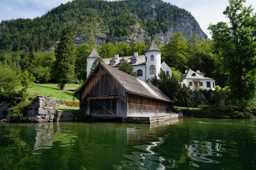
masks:
<svg viewBox="0 0 256 170"><path fill-rule="evenodd" d="M146 56L146 81L158 74L161 69L161 50L157 47L154 41L148 46Z"/></svg>

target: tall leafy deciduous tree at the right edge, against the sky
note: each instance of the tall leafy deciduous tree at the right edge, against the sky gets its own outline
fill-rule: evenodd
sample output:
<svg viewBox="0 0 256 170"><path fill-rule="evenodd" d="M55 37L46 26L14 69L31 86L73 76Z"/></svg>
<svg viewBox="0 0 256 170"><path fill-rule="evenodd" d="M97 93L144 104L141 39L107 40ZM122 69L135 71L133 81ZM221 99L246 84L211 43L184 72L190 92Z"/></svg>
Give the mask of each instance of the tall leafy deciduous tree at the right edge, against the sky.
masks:
<svg viewBox="0 0 256 170"><path fill-rule="evenodd" d="M219 50L217 59L220 70L228 77L233 104L255 97L256 14L253 14L251 6L243 6L244 2L229 0L223 14L229 18L230 26L218 22L208 28Z"/></svg>

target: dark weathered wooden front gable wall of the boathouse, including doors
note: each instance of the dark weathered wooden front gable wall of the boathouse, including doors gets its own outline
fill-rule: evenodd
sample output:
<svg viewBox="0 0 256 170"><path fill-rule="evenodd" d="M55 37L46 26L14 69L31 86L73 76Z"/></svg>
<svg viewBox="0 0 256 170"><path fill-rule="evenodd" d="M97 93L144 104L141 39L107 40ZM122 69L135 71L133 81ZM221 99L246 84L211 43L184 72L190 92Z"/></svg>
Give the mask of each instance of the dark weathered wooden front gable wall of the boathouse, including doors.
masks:
<svg viewBox="0 0 256 170"><path fill-rule="evenodd" d="M123 117L125 96L124 89L101 66L82 93L82 99L87 101L87 115L98 119Z"/></svg>

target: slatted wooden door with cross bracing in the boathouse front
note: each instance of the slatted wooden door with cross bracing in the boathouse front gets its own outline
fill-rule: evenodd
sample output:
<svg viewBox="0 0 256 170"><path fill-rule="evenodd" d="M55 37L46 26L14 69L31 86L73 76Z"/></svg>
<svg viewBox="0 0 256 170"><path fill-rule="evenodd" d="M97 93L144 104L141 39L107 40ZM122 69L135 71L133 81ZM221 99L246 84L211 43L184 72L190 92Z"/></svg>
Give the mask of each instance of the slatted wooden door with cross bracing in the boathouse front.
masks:
<svg viewBox="0 0 256 170"><path fill-rule="evenodd" d="M115 119L117 99L91 99L90 115L94 119Z"/></svg>

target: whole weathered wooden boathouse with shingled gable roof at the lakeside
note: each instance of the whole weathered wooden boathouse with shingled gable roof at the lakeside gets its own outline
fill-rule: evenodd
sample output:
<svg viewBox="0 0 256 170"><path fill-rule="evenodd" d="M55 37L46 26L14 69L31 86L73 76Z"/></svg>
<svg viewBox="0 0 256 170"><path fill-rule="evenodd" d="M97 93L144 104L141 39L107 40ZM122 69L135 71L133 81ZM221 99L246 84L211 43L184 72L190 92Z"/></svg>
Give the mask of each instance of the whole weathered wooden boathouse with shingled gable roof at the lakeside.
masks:
<svg viewBox="0 0 256 170"><path fill-rule="evenodd" d="M172 113L173 101L157 87L103 62L80 87L86 116L116 119Z"/></svg>

